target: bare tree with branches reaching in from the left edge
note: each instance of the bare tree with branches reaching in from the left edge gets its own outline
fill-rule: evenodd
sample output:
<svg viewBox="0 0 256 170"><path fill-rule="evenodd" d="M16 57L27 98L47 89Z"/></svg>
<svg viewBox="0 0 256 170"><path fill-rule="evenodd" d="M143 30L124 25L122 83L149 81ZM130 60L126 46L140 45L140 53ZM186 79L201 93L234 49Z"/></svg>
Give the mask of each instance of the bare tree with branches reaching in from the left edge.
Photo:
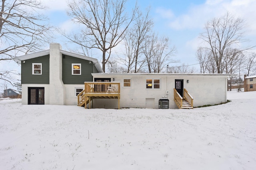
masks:
<svg viewBox="0 0 256 170"><path fill-rule="evenodd" d="M17 54L38 51L49 43L52 27L38 11L45 10L37 0L1 0L0 62L10 61ZM12 70L0 70L0 79L13 84Z"/></svg>

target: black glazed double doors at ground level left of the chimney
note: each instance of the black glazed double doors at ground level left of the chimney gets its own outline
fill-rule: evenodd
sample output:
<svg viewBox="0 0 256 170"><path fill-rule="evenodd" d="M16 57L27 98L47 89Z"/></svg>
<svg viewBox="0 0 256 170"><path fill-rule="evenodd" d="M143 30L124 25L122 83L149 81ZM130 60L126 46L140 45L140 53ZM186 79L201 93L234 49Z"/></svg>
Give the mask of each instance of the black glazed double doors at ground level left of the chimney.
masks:
<svg viewBox="0 0 256 170"><path fill-rule="evenodd" d="M28 88L28 104L44 104L44 87Z"/></svg>

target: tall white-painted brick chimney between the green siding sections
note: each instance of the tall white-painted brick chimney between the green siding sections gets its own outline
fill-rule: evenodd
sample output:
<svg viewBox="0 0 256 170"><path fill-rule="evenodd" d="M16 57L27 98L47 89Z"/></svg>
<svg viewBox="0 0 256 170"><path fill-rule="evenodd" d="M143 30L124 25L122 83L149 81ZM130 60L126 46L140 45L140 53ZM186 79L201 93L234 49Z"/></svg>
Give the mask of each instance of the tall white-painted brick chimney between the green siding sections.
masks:
<svg viewBox="0 0 256 170"><path fill-rule="evenodd" d="M66 95L62 82L62 54L60 53L61 45L50 43L50 104L65 105Z"/></svg>

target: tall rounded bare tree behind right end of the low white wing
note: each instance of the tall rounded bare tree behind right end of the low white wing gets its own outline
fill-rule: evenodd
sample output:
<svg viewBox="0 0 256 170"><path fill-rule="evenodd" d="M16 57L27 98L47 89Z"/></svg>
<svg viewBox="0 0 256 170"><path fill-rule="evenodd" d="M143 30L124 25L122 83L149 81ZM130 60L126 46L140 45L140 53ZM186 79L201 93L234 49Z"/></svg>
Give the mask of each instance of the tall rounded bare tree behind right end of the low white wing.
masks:
<svg viewBox="0 0 256 170"><path fill-rule="evenodd" d="M205 32L200 38L206 43L205 48L212 53L217 73L224 71L226 49L235 48L235 45L243 41L244 28L244 20L234 18L230 13L206 23Z"/></svg>

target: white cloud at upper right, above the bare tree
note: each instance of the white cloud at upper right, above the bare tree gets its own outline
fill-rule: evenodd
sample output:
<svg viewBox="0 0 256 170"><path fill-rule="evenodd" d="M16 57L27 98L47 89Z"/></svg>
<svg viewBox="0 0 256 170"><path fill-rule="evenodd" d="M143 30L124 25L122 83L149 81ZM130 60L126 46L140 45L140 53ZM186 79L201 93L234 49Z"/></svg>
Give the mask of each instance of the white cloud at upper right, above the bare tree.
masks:
<svg viewBox="0 0 256 170"><path fill-rule="evenodd" d="M173 29L202 28L206 21L230 12L250 23L251 30L256 30L255 6L255 0L208 0L205 4L192 6L188 12L170 21L169 26Z"/></svg>

